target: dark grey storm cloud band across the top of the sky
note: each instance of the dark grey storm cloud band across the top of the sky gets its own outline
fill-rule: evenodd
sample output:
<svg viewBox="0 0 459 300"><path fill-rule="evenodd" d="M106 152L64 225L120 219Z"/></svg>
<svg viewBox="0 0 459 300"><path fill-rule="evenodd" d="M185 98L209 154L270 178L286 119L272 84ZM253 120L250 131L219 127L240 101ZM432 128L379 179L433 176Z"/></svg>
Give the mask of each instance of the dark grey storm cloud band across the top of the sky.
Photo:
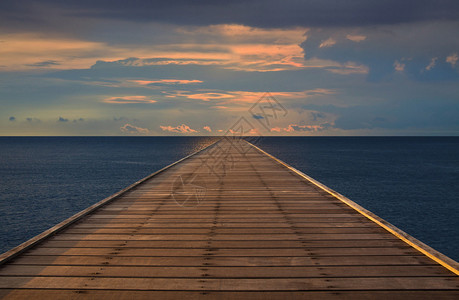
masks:
<svg viewBox="0 0 459 300"><path fill-rule="evenodd" d="M239 23L257 27L362 26L457 19L456 0L15 0L0 3L7 25L50 22L60 14L182 25ZM29 21L26 21L29 20Z"/></svg>

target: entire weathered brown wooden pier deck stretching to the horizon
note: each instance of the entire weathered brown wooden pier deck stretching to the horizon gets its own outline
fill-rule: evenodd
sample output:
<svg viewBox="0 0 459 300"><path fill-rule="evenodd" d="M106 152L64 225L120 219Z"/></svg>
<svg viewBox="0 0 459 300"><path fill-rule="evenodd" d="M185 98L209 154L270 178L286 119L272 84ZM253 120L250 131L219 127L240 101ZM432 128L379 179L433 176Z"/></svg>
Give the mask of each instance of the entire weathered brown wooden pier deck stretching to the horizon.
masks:
<svg viewBox="0 0 459 300"><path fill-rule="evenodd" d="M235 140L0 261L5 299L459 299L456 262Z"/></svg>

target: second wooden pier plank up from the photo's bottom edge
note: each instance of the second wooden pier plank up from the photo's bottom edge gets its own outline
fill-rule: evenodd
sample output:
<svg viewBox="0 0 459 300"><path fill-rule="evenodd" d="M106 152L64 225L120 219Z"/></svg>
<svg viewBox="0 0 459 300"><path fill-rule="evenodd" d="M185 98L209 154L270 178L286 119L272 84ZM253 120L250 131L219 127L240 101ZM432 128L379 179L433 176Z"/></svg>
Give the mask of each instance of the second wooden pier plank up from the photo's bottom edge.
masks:
<svg viewBox="0 0 459 300"><path fill-rule="evenodd" d="M119 290L456 290L459 280L451 277L378 278L104 278L104 277L4 277L0 288L109 289Z"/></svg>

